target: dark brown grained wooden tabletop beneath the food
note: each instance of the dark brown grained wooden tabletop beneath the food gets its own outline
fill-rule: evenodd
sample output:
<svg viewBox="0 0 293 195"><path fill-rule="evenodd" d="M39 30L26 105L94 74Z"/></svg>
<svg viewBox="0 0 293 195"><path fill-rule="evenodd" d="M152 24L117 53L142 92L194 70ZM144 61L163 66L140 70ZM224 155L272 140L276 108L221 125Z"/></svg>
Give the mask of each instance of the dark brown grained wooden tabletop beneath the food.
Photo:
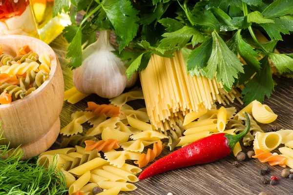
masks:
<svg viewBox="0 0 293 195"><path fill-rule="evenodd" d="M290 44L292 40L293 37L287 36L278 45L279 51L281 53L293 53L293 46ZM50 46L56 52L62 65L65 90L67 90L73 86L72 71L66 67L68 59L65 59L68 44L62 36L59 36ZM264 102L278 115L278 118L272 125L284 129L293 129L293 78L274 78L274 80L278 84L275 86L275 92L270 99L266 99ZM64 102L60 115L62 128L70 122L72 113L86 108L87 101L95 101L99 104L108 103L108 99L100 98L97 95L91 95L75 105ZM129 102L129 105L133 106L134 109L145 107L143 100ZM238 111L243 108L238 102L231 105L235 106ZM265 130L269 126L262 125L262 128ZM85 123L84 129L89 127ZM62 136L58 137L52 148L58 148L62 139ZM252 148L245 147L243 149L244 152L247 152ZM165 148L159 157L166 156L169 153L170 151ZM260 192L267 192L268 195L293 195L293 180L281 177L281 167L270 166L271 173L266 176L267 178L272 175L279 176L279 183L275 186L264 185L260 181L262 176L260 176L259 172L261 169L269 166L268 163L261 163L258 159L249 159L239 162L239 166L236 168L232 166L235 160L236 158L230 155L217 162L192 166L154 176L137 182L135 185L138 189L126 194L167 195L167 193L171 192L173 195L258 195Z"/></svg>

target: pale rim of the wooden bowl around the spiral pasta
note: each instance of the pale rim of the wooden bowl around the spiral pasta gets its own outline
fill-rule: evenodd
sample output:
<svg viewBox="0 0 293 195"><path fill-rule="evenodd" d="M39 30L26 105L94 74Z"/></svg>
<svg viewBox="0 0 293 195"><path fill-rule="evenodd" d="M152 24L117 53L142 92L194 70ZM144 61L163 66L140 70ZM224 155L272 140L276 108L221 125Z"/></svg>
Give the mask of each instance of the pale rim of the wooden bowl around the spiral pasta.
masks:
<svg viewBox="0 0 293 195"><path fill-rule="evenodd" d="M46 87L46 85L48 83L50 83L51 79L53 78L53 76L56 72L56 69L57 69L57 65L58 65L57 56L56 56L54 50L47 43L43 42L40 39L36 39L33 37L24 36L24 35L5 35L5 36L0 36L0 44L1 44L2 39L6 39L6 40L7 39L14 39L14 40L15 39L20 39L20 40L24 39L24 40L30 40L30 41L35 42L36 44L39 44L41 47L43 47L46 50L47 54L49 54L51 57L51 69L50 69L49 77L45 80L44 83L42 83L42 85L38 89L36 89L33 92L33 94L30 94L27 97L24 97L22 99L18 99L16 101L12 101L9 104L2 104L2 105L0 105L0 109L5 108L5 107L9 107L11 105L16 106L17 104L20 104L23 101L27 101L28 99L32 98L33 96L36 96L37 94L42 93L43 89ZM30 46L30 45L28 45L28 46ZM33 51L33 52L38 53L38 51ZM40 99L40 101L42 101L42 99Z"/></svg>

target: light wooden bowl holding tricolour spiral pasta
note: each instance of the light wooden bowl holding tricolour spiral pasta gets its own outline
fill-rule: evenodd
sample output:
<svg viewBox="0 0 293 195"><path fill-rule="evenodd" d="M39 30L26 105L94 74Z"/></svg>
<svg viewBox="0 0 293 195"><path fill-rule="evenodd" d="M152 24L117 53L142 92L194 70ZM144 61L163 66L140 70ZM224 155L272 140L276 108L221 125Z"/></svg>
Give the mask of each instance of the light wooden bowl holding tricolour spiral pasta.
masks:
<svg viewBox="0 0 293 195"><path fill-rule="evenodd" d="M1 144L10 148L21 145L22 159L46 151L57 139L60 132L59 115L63 106L64 80L62 69L53 49L43 41L27 36L0 36L3 53L16 56L19 47L28 45L38 55L47 53L51 57L51 71L47 80L32 94L0 105L2 120Z"/></svg>

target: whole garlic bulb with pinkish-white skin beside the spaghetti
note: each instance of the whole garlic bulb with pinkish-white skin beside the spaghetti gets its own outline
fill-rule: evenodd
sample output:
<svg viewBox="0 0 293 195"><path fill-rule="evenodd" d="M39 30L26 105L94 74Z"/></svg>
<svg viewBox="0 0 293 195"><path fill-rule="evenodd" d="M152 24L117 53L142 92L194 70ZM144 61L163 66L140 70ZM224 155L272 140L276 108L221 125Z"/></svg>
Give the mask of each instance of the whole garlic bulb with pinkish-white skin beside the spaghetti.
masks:
<svg viewBox="0 0 293 195"><path fill-rule="evenodd" d="M73 82L84 94L97 94L102 98L114 98L131 87L137 80L135 73L128 80L126 67L111 51L110 31L100 32L99 39L84 49L82 65L74 70Z"/></svg>

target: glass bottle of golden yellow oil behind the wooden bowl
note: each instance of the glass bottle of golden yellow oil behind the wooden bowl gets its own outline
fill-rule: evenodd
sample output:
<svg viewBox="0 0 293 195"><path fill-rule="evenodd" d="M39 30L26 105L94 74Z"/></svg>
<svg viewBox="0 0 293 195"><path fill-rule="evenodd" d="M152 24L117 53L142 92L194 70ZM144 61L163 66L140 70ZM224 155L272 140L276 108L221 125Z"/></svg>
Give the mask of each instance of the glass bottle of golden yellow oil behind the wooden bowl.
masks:
<svg viewBox="0 0 293 195"><path fill-rule="evenodd" d="M55 39L65 26L70 24L70 19L64 12L53 18L54 0L30 0L36 20L40 39L50 43Z"/></svg>

